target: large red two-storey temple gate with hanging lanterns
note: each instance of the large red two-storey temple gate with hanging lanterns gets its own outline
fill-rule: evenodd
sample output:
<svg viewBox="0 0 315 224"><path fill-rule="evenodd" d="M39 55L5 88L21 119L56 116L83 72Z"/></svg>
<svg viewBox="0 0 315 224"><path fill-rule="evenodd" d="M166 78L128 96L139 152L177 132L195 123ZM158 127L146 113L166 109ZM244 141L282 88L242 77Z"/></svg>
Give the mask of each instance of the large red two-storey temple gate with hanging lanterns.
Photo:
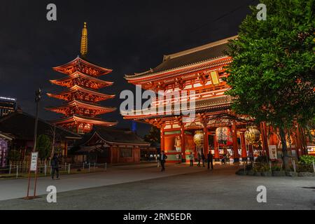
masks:
<svg viewBox="0 0 315 224"><path fill-rule="evenodd" d="M154 69L125 76L128 83L141 85L144 90L181 92L172 99L165 96L153 99L151 106L162 113L148 113L147 109L122 112L127 120L160 129L161 151L168 155L167 162L186 162L190 153L197 158L202 153L207 156L209 151L216 160L230 154L235 162L247 160L248 155L268 155L274 159L281 156L276 131L266 123L253 127L253 118L235 114L231 110L232 99L224 94L230 88L223 80L228 76L225 66L232 62L225 50L232 38L237 36L165 55ZM188 94L182 94L184 91ZM193 102L194 108L190 108ZM176 113L176 109L182 113ZM195 112L191 121L184 119L187 113L183 112L188 111ZM290 153L305 154L302 134L294 133L297 135L292 135Z"/></svg>

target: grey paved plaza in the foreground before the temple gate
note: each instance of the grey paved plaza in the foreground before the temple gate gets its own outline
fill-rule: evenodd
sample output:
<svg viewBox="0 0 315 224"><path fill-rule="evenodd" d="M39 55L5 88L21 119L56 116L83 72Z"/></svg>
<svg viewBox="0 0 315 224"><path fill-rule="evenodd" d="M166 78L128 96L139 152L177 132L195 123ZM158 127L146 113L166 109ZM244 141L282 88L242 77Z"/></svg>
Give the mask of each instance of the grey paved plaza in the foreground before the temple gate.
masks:
<svg viewBox="0 0 315 224"><path fill-rule="evenodd" d="M237 166L154 164L110 167L107 172L38 180L36 200L23 200L27 180L1 180L0 209L315 209L315 177L237 176ZM45 188L57 187L57 203ZM267 188L258 203L257 187Z"/></svg>

